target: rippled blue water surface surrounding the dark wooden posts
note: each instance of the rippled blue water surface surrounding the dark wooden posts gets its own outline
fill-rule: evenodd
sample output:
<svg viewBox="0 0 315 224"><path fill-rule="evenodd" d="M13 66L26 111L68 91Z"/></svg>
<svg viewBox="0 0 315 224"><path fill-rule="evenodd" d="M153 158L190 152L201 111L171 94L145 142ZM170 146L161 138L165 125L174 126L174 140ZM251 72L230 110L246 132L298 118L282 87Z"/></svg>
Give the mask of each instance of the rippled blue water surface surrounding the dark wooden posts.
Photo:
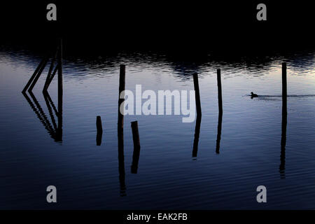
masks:
<svg viewBox="0 0 315 224"><path fill-rule="evenodd" d="M62 141L48 131L57 125L57 78L49 89L53 104L47 104L41 92L43 77L34 96L21 94L40 61L41 55L30 50L1 47L0 209L315 208L313 51L241 57L212 52L200 57L162 52L65 54ZM288 64L285 146L283 61ZM193 90L190 75L199 73L201 123L182 123L181 116L125 116L125 159L119 163L120 64L126 64L126 89L133 91L137 84L143 91ZM217 68L222 73L222 124ZM260 97L251 99L251 91ZM101 146L95 141L96 116L103 121ZM47 120L50 126L43 125ZM131 172L134 120L141 143L137 174ZM196 125L200 138L193 158ZM50 185L57 187L57 204L46 202ZM267 187L265 204L256 201L261 185Z"/></svg>

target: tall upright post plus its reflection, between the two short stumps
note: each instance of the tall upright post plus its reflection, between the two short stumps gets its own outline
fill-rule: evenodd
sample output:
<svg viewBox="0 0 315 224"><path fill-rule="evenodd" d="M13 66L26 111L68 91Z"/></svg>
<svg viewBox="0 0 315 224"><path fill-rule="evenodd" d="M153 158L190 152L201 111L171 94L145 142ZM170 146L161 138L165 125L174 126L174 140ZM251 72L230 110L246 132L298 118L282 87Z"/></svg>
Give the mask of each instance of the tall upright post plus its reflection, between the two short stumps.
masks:
<svg viewBox="0 0 315 224"><path fill-rule="evenodd" d="M124 155L124 101L125 101L125 65L120 65L119 96L118 96L118 169L120 196L126 195L125 185L125 155Z"/></svg>

